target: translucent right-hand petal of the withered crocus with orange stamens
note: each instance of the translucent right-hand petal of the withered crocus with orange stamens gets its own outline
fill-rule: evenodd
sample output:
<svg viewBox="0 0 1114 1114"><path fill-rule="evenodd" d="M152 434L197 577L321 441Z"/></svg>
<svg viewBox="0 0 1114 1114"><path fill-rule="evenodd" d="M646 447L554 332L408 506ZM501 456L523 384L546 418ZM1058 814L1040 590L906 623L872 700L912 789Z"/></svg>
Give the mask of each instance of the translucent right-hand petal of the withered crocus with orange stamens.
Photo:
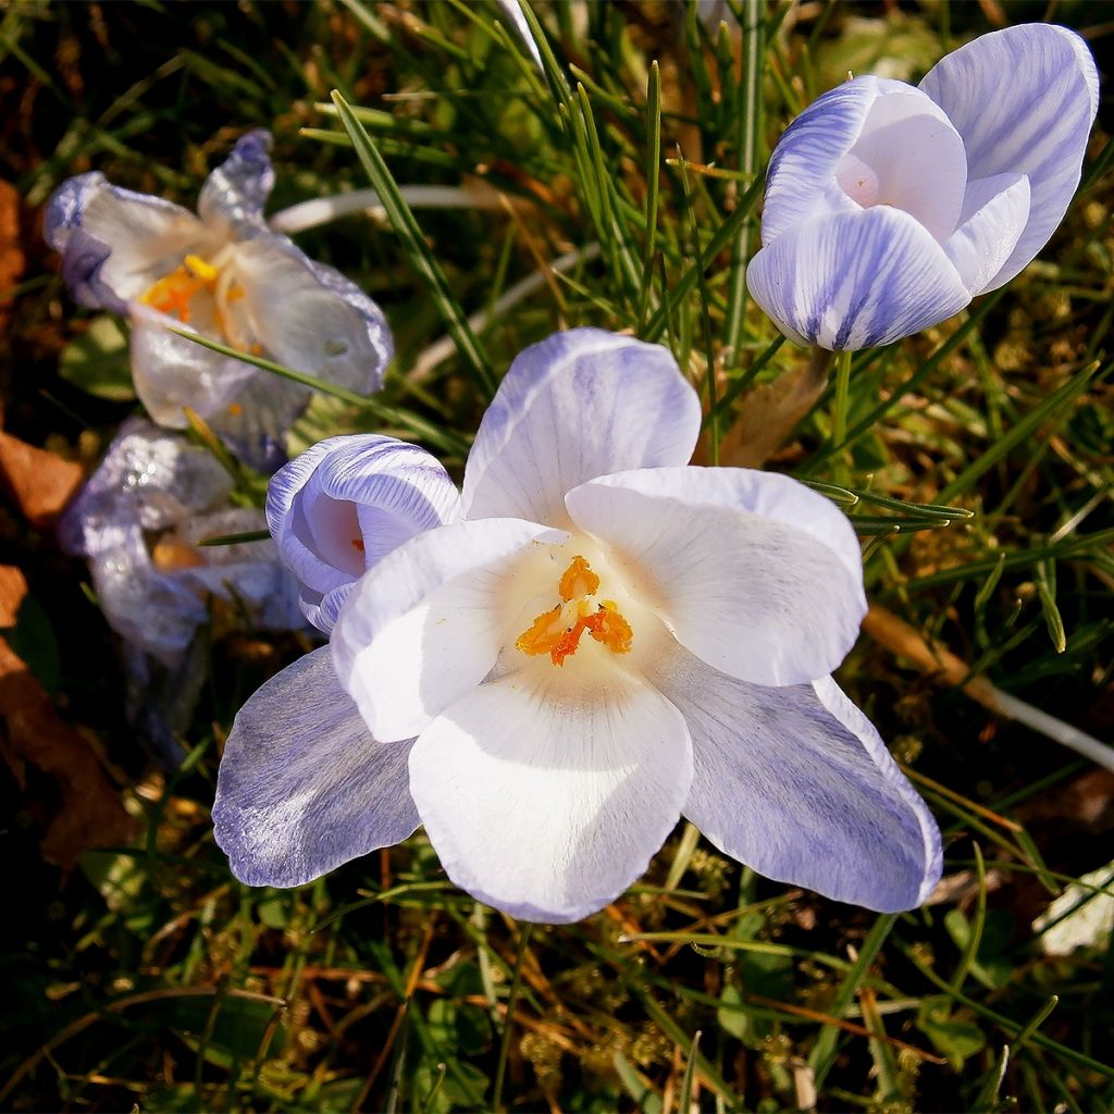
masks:
<svg viewBox="0 0 1114 1114"><path fill-rule="evenodd" d="M278 363L354 391L375 391L393 352L382 312L332 267L313 263L285 236L236 245L229 309Z"/></svg>

